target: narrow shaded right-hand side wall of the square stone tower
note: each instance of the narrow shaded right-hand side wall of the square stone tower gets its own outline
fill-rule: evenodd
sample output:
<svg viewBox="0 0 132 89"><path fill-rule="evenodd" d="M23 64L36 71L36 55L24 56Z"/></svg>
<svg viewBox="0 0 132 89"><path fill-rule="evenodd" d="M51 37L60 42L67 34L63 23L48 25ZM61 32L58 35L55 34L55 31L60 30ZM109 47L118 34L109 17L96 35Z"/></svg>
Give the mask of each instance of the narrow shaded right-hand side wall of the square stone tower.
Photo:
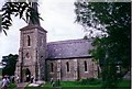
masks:
<svg viewBox="0 0 132 89"><path fill-rule="evenodd" d="M45 79L45 59L46 59L46 33L37 32L37 66L40 80Z"/></svg>

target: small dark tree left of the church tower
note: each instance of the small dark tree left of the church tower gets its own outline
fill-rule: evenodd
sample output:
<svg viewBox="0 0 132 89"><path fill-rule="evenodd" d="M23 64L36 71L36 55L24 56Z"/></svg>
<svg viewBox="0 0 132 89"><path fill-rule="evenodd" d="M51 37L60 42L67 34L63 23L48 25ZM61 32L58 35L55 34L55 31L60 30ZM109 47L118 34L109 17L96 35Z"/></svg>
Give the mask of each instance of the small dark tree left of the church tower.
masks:
<svg viewBox="0 0 132 89"><path fill-rule="evenodd" d="M15 71L15 65L19 55L8 55L2 57L2 63L6 63L6 67L2 69L2 75L13 76Z"/></svg>

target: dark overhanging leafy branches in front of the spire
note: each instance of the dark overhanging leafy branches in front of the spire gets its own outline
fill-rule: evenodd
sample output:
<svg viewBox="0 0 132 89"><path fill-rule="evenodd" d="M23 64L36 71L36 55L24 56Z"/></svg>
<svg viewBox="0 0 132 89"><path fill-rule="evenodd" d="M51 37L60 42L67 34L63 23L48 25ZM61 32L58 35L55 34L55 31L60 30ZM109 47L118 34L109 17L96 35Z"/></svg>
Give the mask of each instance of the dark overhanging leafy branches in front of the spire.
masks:
<svg viewBox="0 0 132 89"><path fill-rule="evenodd" d="M9 26L12 25L12 15L19 16L20 19L24 20L26 23L32 21L34 24L35 22L38 23L38 19L42 20L40 13L32 7L32 4L36 4L37 2L6 2L2 5L1 11L2 13L2 21L1 21L1 29L7 35L7 30Z"/></svg>

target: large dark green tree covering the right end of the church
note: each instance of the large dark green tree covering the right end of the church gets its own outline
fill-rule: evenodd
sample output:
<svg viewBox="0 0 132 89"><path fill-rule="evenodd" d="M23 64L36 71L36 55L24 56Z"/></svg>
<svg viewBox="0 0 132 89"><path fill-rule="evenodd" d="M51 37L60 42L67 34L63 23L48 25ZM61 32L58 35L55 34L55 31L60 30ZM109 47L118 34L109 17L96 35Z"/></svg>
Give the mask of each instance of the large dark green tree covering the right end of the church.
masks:
<svg viewBox="0 0 132 89"><path fill-rule="evenodd" d="M101 67L102 87L117 87L130 70L131 3L80 0L75 2L75 7L79 24L105 33L96 36L92 42L95 48L89 53Z"/></svg>

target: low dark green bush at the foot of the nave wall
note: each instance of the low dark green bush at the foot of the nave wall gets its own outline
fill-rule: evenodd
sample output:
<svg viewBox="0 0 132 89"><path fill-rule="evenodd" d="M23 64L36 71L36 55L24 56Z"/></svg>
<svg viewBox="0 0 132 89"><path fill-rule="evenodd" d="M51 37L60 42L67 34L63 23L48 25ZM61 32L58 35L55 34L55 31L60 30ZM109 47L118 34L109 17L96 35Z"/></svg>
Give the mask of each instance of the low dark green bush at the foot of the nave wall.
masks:
<svg viewBox="0 0 132 89"><path fill-rule="evenodd" d="M98 85L100 84L100 80L96 78L87 78L87 79L80 79L79 84L80 85Z"/></svg>

